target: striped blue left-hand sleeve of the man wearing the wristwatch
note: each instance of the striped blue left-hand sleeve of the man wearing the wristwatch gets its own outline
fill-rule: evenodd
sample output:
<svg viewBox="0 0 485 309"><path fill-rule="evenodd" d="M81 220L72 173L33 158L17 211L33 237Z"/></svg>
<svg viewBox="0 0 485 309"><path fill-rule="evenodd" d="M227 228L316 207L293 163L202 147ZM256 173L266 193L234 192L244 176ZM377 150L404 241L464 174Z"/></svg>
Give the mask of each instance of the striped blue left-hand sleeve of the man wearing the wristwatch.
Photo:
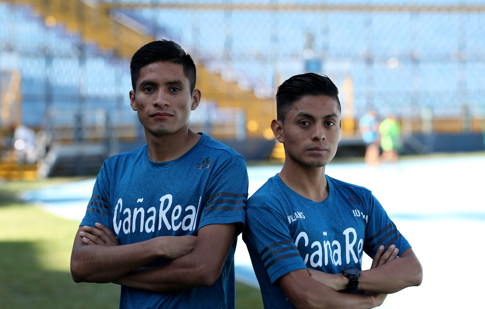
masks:
<svg viewBox="0 0 485 309"><path fill-rule="evenodd" d="M292 271L307 268L291 238L286 218L270 207L248 207L245 236L259 254L271 283Z"/></svg>

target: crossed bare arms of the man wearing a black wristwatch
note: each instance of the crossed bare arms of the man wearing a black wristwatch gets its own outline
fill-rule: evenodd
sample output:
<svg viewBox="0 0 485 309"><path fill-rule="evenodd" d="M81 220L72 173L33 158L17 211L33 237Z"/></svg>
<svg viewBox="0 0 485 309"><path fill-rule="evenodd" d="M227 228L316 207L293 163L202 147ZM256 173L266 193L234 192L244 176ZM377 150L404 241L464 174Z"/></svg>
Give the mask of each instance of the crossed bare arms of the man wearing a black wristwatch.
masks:
<svg viewBox="0 0 485 309"><path fill-rule="evenodd" d="M364 294L339 293L349 279L341 274L326 274L300 269L278 279L277 283L296 308L315 309L370 309L382 305L387 293L395 293L409 286L420 285L422 269L411 248L401 257L392 245L384 251L379 247L370 270L362 271L359 290Z"/></svg>

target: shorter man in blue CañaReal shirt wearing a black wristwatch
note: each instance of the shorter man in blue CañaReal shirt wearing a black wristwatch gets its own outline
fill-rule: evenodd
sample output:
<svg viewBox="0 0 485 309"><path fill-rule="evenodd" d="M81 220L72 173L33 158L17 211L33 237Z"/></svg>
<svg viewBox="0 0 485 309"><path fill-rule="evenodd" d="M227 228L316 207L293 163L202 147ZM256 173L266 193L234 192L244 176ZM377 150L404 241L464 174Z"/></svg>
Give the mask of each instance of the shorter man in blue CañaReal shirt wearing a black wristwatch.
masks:
<svg viewBox="0 0 485 309"><path fill-rule="evenodd" d="M243 233L268 309L373 308L422 280L411 246L371 191L325 175L339 141L338 93L314 73L278 87L271 128L286 160L248 199ZM364 252L374 260L361 271Z"/></svg>

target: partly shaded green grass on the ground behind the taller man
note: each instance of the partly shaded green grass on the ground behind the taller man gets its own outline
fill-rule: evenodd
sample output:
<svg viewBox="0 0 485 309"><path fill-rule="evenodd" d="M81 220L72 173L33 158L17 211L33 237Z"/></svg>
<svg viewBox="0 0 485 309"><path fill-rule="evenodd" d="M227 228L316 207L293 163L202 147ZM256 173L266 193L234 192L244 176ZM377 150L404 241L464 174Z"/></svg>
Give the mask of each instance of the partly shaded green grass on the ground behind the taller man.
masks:
<svg viewBox="0 0 485 309"><path fill-rule="evenodd" d="M79 222L15 198L20 190L69 180L0 184L0 309L119 307L118 285L75 283L71 278L69 260ZM261 294L236 283L236 308L263 308Z"/></svg>

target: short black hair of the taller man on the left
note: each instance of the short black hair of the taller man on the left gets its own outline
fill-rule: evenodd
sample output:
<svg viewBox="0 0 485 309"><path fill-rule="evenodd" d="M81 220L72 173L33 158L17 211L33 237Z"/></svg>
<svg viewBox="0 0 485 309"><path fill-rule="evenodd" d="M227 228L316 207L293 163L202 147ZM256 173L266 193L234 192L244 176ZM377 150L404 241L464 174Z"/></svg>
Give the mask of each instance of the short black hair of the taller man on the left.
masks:
<svg viewBox="0 0 485 309"><path fill-rule="evenodd" d="M183 66L183 74L190 82L190 93L195 89L195 64L189 54L185 53L180 45L174 41L153 41L138 49L131 58L129 69L131 73L131 86L136 92L136 81L140 77L140 70L145 65L158 61L167 61Z"/></svg>

